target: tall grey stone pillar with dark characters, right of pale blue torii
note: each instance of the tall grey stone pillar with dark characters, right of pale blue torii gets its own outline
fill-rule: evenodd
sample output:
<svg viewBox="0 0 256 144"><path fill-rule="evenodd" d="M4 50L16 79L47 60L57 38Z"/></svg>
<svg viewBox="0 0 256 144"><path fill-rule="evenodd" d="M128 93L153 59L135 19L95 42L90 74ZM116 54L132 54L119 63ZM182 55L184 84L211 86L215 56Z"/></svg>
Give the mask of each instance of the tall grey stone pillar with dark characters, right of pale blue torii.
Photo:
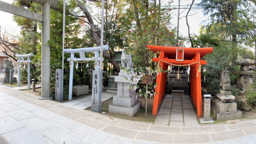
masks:
<svg viewBox="0 0 256 144"><path fill-rule="evenodd" d="M102 71L92 72L92 111L101 112Z"/></svg>

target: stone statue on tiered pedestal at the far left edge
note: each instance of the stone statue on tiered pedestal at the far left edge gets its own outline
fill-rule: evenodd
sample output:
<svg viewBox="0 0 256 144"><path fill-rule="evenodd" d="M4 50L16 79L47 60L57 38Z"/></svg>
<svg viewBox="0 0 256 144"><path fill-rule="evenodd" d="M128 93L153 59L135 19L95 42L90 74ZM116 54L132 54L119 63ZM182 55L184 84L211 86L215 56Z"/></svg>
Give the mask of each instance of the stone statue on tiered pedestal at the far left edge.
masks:
<svg viewBox="0 0 256 144"><path fill-rule="evenodd" d="M12 73L10 73L12 71ZM12 61L8 60L8 58L4 59L4 77L0 78L0 82L1 83L9 83L10 79L12 79L12 82L17 82L17 78L10 78L10 76L13 76L13 65L12 65Z"/></svg>

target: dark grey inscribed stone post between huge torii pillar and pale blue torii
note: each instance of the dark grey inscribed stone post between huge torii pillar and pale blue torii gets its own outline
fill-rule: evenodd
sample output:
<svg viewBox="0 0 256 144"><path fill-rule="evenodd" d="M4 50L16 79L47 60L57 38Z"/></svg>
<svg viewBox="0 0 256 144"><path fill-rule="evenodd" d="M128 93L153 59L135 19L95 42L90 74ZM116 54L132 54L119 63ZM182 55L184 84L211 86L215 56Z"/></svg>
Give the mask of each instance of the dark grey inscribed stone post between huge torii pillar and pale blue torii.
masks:
<svg viewBox="0 0 256 144"><path fill-rule="evenodd" d="M63 70L56 69L55 74L55 100L63 100Z"/></svg>

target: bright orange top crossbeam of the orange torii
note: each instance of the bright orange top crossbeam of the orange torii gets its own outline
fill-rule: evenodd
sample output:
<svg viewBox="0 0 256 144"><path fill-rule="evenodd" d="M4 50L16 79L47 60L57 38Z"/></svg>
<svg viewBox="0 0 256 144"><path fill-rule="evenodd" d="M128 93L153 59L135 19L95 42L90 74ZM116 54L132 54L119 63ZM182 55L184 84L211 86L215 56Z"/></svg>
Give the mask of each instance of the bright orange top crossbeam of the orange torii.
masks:
<svg viewBox="0 0 256 144"><path fill-rule="evenodd" d="M176 59L176 49L184 49L184 59L191 60L197 52L200 53L200 58L208 53L212 53L213 48L186 48L186 47L173 47L173 46L152 46L147 45L149 51L160 52L164 51L164 55L169 59Z"/></svg>

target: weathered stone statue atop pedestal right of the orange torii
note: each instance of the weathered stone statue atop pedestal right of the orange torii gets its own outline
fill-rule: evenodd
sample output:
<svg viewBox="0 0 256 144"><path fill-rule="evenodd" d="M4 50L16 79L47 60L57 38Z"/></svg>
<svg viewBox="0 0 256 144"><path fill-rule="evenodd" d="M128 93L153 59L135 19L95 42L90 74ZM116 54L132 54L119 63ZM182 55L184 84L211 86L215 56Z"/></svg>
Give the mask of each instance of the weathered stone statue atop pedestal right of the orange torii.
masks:
<svg viewBox="0 0 256 144"><path fill-rule="evenodd" d="M223 70L220 78L220 90L224 91L230 91L230 77L229 77L229 71Z"/></svg>

